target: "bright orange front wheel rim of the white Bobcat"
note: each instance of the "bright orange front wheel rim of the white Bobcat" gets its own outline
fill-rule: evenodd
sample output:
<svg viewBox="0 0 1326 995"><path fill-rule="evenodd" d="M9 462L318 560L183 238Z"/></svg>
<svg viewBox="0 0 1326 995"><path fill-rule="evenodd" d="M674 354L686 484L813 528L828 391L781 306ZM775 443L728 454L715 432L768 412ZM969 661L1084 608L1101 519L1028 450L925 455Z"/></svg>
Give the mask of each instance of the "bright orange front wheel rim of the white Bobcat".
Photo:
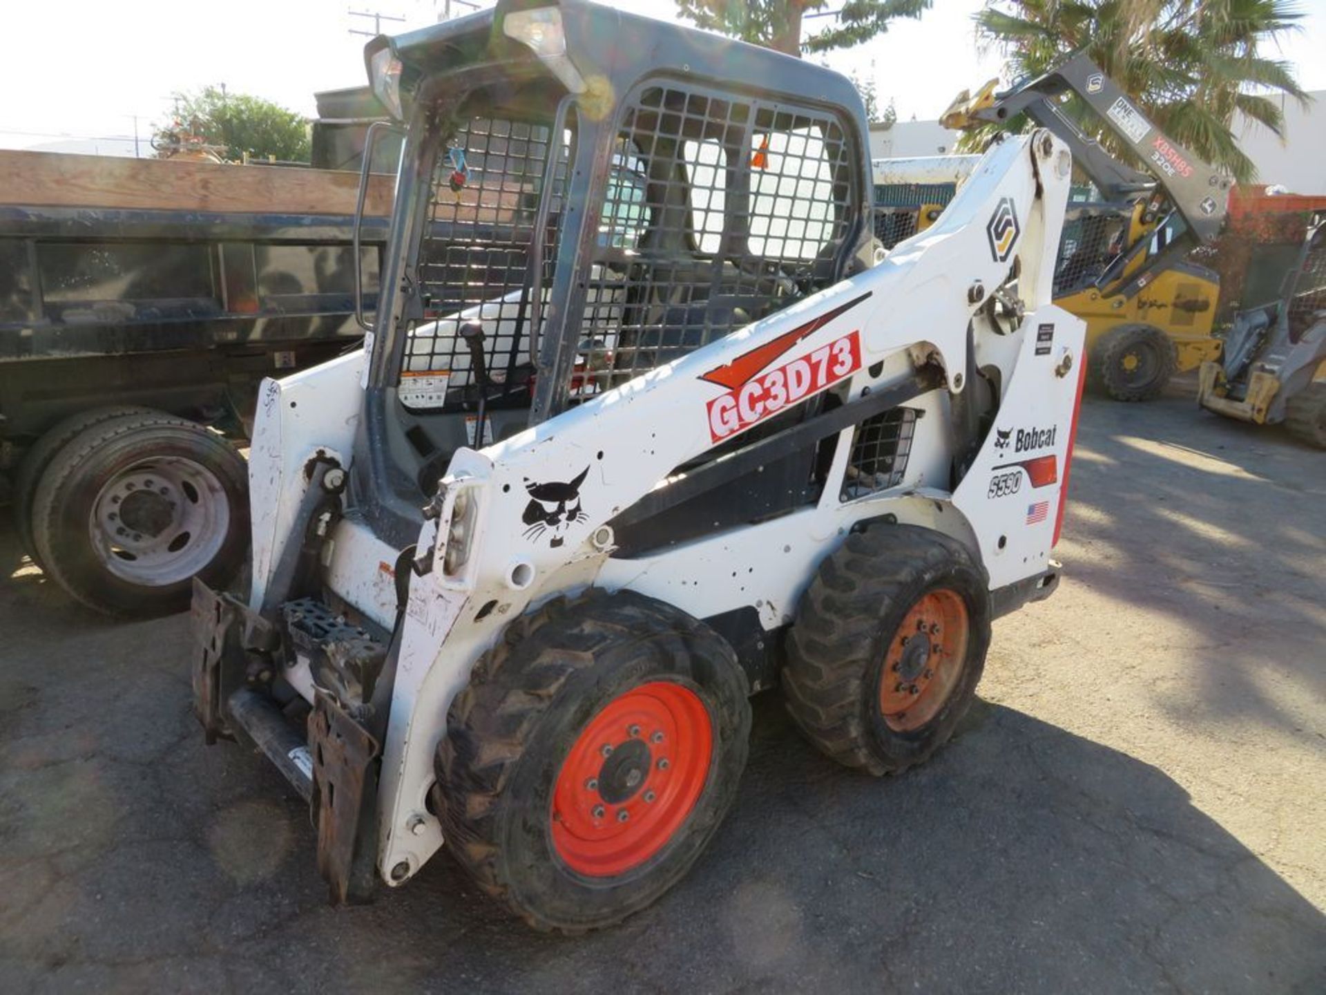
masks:
<svg viewBox="0 0 1326 995"><path fill-rule="evenodd" d="M557 773L550 813L557 856L589 877L639 866L691 815L712 755L713 723L691 689L655 681L614 698Z"/></svg>

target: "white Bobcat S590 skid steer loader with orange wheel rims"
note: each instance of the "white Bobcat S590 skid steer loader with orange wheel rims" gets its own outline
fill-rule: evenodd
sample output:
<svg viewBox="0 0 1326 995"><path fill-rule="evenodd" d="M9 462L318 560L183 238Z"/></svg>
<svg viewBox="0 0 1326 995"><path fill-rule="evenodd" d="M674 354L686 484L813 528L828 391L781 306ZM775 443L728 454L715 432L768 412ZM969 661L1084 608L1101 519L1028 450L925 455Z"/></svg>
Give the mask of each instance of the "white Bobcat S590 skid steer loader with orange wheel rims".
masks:
<svg viewBox="0 0 1326 995"><path fill-rule="evenodd" d="M579 0L366 58L406 134L383 292L362 354L264 386L196 711L309 799L334 901L447 846L606 926L717 830L748 695L900 772L1053 592L1071 157L994 146L886 260L861 100L810 62Z"/></svg>

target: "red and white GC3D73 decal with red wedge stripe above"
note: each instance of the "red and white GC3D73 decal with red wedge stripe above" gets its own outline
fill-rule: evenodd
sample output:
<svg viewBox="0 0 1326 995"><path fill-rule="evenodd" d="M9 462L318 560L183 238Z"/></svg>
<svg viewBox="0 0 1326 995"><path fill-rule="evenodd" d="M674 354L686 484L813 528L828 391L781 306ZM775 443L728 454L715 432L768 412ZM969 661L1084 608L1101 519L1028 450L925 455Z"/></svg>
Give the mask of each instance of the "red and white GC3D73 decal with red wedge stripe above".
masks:
<svg viewBox="0 0 1326 995"><path fill-rule="evenodd" d="M804 325L798 325L772 342L756 346L729 364L701 374L700 379L727 387L724 394L713 398L705 406L711 439L721 442L757 422L773 418L780 411L818 394L859 370L859 330L839 336L831 342L772 370L765 371L765 367L869 296L865 293Z"/></svg>

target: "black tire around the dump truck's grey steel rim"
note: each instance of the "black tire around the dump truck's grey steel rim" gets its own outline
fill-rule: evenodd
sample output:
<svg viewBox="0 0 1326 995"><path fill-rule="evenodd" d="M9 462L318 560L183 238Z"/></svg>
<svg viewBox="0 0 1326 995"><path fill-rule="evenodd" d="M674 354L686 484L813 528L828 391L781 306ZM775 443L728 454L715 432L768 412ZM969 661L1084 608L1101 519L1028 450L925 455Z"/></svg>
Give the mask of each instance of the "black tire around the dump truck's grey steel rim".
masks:
<svg viewBox="0 0 1326 995"><path fill-rule="evenodd" d="M182 492L187 498L171 495L176 501L171 508L188 500L199 508L210 507L215 515L206 547L191 548L188 532L179 532L170 544L183 540L171 555L190 555L178 563L196 560L187 574L174 576L168 565L158 577L135 577L133 565L117 564L117 572L107 565L110 555L94 545L90 523L98 496L113 482L143 472L150 460L199 468L216 486L215 492L206 492L190 484ZM155 494L150 498L158 500ZM174 529L174 520L158 528L167 527ZM50 460L33 496L32 529L46 574L89 608L127 617L180 612L188 608L194 576L212 588L224 588L244 560L249 540L248 468L224 439L195 422L152 411L113 418L85 429ZM194 556L194 549L203 559ZM126 551L118 559L134 561Z"/></svg>

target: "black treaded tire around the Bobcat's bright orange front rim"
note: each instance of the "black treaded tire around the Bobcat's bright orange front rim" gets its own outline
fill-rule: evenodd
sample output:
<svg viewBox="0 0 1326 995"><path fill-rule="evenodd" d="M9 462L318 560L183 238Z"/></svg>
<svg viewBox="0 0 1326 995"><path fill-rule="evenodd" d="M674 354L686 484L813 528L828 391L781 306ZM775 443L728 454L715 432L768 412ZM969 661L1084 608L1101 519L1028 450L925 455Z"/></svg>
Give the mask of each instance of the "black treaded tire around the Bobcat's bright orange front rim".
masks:
<svg viewBox="0 0 1326 995"><path fill-rule="evenodd" d="M651 682L680 686L703 702L712 732L703 787L660 849L621 873L587 876L554 842L558 779L570 769L582 731ZM732 647L708 626L629 592L558 598L507 629L451 707L436 755L448 849L484 892L536 929L611 926L658 899L699 858L736 796L749 732L745 677ZM625 756L642 742L627 739L617 750ZM674 748L683 756L682 744ZM643 756L651 777L652 754ZM662 755L658 763L667 767ZM636 780L631 791L651 783ZM638 800L614 795L611 803L625 808Z"/></svg>

